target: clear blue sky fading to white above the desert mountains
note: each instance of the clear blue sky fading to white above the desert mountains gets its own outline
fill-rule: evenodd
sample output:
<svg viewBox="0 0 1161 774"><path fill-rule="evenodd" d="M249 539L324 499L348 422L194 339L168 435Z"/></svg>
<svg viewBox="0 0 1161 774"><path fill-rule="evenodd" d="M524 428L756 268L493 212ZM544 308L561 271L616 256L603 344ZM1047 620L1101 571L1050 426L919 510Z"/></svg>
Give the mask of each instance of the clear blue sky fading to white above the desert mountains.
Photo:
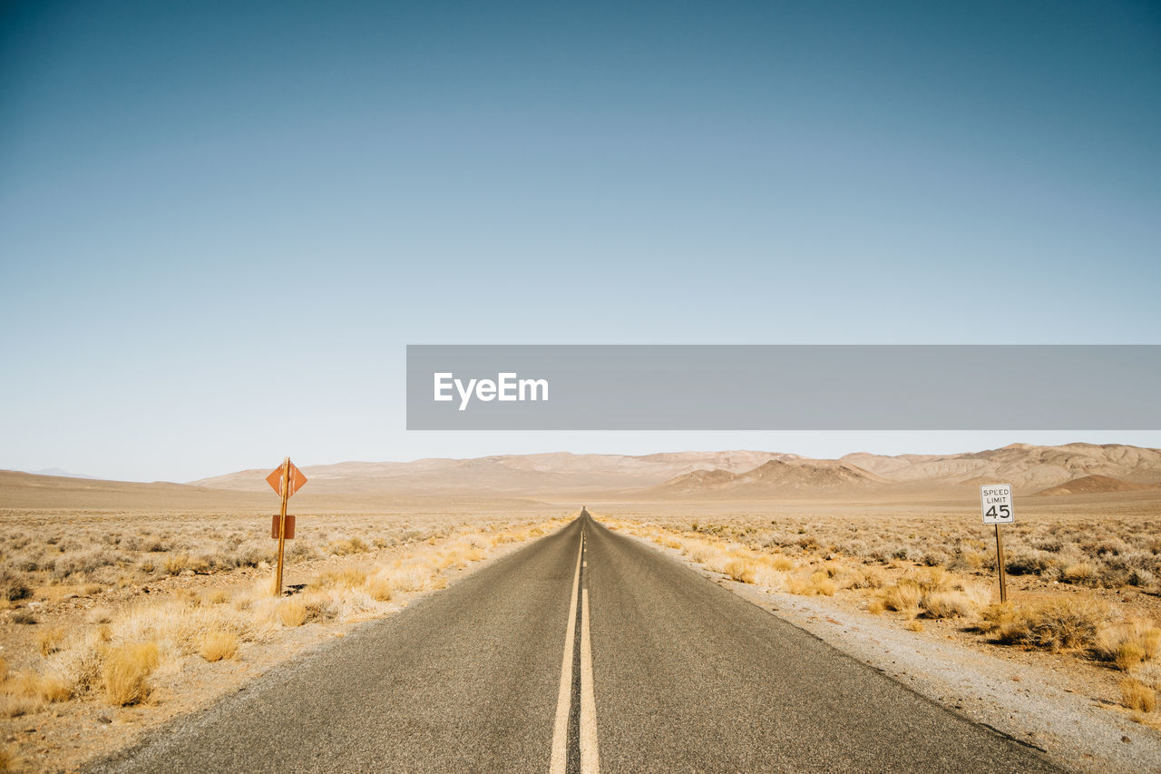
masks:
<svg viewBox="0 0 1161 774"><path fill-rule="evenodd" d="M408 343L1161 343L1158 3L629 6L0 6L0 467L1161 446L406 432Z"/></svg>

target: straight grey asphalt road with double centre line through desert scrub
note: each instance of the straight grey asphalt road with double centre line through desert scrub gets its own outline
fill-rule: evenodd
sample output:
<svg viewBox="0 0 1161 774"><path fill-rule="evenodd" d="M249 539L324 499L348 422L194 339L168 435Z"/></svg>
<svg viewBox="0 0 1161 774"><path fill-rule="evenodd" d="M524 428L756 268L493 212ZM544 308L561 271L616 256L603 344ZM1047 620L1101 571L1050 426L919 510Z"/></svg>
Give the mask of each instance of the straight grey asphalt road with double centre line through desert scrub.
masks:
<svg viewBox="0 0 1161 774"><path fill-rule="evenodd" d="M587 515L96 768L1055 771Z"/></svg>

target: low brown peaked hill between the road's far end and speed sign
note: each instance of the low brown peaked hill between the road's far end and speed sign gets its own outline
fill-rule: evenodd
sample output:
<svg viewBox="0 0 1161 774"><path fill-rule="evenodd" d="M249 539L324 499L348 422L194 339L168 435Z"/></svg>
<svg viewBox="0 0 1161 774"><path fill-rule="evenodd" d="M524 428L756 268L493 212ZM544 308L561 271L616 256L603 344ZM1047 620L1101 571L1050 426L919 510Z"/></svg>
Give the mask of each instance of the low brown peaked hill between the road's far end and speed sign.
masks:
<svg viewBox="0 0 1161 774"><path fill-rule="evenodd" d="M837 460L770 460L752 471L697 471L654 487L643 496L683 499L765 499L843 495L889 487L888 479Z"/></svg>

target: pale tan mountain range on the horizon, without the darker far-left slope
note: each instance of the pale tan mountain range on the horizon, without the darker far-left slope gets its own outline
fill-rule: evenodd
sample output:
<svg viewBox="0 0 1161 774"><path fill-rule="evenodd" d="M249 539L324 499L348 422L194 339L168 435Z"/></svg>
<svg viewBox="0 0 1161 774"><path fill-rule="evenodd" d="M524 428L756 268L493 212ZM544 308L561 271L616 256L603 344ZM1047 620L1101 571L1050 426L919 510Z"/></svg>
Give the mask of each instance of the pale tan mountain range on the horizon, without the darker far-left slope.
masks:
<svg viewBox="0 0 1161 774"><path fill-rule="evenodd" d="M412 463L339 463L308 466L303 471L315 492L359 495L745 500L894 492L962 494L968 485L988 482L1011 483L1023 492L1037 493L1091 476L1103 478L1077 485L1077 489L1117 492L1161 485L1161 450L1122 444L1011 444L959 454L889 457L860 452L837 460L763 451L644 456L560 452ZM267 487L264 479L268 472L240 471L193 483L261 492Z"/></svg>

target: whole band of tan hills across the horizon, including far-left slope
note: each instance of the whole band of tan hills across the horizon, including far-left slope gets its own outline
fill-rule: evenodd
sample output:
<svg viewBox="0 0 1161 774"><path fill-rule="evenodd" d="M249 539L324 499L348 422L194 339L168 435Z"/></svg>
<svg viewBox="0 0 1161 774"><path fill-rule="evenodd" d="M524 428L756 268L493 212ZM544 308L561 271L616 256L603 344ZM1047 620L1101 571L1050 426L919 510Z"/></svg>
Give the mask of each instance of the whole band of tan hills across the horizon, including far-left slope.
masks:
<svg viewBox="0 0 1161 774"><path fill-rule="evenodd" d="M305 466L301 507L375 509L456 500L513 507L535 501L715 501L931 499L974 496L979 483L1011 483L1022 495L1161 492L1161 450L1066 444L960 454L854 453L810 459L764 451L659 454L502 454L412 463ZM53 473L63 473L53 471ZM268 468L181 483L101 481L0 471L0 508L271 507Z"/></svg>

